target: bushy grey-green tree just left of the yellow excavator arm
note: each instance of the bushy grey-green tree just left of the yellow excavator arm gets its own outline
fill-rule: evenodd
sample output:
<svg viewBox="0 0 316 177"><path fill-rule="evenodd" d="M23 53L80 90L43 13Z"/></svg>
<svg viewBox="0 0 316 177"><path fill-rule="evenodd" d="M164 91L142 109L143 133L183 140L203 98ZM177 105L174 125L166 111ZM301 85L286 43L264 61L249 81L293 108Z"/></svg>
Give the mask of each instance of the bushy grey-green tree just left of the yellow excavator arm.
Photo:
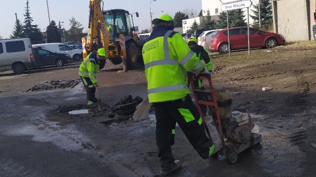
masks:
<svg viewBox="0 0 316 177"><path fill-rule="evenodd" d="M85 34L82 33L83 28L81 28L80 22L77 22L75 17L72 17L70 20L70 29L65 32L66 41L74 41L81 43L81 37L84 37Z"/></svg>

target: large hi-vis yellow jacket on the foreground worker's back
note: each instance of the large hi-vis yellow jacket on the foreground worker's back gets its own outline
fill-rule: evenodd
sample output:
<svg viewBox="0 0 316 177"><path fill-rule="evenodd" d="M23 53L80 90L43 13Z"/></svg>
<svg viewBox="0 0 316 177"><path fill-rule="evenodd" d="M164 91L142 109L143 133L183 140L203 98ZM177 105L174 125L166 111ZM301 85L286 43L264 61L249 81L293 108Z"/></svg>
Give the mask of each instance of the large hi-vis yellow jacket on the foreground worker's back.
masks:
<svg viewBox="0 0 316 177"><path fill-rule="evenodd" d="M182 36L158 25L143 46L149 102L171 101L190 94L187 70L200 72L204 63Z"/></svg>

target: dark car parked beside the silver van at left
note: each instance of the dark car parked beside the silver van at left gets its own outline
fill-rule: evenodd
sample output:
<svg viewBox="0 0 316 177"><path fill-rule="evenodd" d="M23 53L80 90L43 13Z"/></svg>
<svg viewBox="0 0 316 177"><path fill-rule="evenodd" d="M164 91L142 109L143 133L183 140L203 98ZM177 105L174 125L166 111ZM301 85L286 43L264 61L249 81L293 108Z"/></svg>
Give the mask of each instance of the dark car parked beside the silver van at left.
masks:
<svg viewBox="0 0 316 177"><path fill-rule="evenodd" d="M63 66L65 63L68 63L71 60L69 54L57 53L42 47L33 47L33 54L36 66Z"/></svg>

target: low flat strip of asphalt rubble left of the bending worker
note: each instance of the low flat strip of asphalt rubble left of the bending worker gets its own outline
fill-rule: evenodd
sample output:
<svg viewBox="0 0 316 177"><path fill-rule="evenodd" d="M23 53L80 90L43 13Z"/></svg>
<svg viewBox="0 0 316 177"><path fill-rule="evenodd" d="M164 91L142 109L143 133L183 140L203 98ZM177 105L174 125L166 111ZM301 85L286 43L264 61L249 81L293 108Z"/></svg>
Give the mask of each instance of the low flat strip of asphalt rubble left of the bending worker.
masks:
<svg viewBox="0 0 316 177"><path fill-rule="evenodd" d="M60 80L60 81L46 81L42 84L36 85L31 89L27 89L28 91L40 91L40 90L52 90L52 89L66 89L66 88L74 88L80 83L80 79L75 80Z"/></svg>

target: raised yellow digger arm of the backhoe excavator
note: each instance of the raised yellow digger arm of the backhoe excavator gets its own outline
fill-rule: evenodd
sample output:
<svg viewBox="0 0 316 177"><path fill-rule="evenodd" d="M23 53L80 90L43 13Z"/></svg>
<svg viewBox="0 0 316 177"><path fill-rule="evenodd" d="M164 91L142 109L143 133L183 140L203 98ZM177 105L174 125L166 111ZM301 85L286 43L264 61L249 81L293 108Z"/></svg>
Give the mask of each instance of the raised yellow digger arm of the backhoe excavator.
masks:
<svg viewBox="0 0 316 177"><path fill-rule="evenodd" d="M99 40L106 51L106 57L109 57L110 33L102 14L101 1L90 0L88 36L82 37L83 58L88 55L88 52L98 49L95 46L98 46Z"/></svg>

